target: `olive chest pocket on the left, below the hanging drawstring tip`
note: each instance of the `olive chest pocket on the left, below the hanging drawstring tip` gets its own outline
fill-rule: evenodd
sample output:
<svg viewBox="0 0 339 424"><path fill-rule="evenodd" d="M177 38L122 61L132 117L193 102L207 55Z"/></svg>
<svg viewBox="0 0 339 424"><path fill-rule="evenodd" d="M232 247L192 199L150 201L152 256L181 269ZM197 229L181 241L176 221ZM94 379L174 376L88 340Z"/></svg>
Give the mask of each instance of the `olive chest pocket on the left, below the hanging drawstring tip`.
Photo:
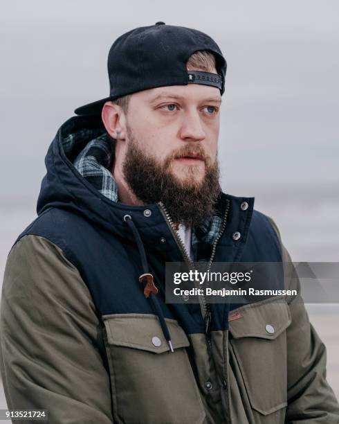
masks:
<svg viewBox="0 0 339 424"><path fill-rule="evenodd" d="M166 319L172 353L156 316L102 318L116 422L203 423L205 411L186 352L190 342L177 321Z"/></svg>

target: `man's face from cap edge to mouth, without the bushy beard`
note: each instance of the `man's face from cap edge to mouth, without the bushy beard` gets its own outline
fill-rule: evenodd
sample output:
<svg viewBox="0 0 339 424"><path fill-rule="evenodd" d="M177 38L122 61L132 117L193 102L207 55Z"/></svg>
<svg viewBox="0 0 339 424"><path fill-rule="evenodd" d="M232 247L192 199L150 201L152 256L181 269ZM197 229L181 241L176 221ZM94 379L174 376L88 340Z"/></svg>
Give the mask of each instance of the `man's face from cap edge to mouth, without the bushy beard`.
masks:
<svg viewBox="0 0 339 424"><path fill-rule="evenodd" d="M183 184L199 185L217 159L219 89L207 85L140 91L129 102L127 145L138 148Z"/></svg>

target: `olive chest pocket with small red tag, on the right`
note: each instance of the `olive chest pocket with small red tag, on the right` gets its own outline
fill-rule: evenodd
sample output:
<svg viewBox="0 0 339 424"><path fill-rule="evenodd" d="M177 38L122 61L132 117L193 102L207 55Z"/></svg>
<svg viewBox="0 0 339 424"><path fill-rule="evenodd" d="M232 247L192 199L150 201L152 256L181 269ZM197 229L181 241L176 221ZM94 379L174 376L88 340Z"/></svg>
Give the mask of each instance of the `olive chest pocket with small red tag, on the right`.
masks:
<svg viewBox="0 0 339 424"><path fill-rule="evenodd" d="M239 366L250 405L262 417L255 422L284 422L286 328L291 324L288 305L283 299L269 299L239 312L241 317L230 321L230 351Z"/></svg>

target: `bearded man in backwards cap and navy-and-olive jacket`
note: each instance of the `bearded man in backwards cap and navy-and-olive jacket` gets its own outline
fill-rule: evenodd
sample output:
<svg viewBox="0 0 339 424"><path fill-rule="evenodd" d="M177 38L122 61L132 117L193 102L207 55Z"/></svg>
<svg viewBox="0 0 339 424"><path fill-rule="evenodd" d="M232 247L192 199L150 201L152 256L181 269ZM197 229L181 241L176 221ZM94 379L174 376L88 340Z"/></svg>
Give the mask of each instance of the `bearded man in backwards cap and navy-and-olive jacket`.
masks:
<svg viewBox="0 0 339 424"><path fill-rule="evenodd" d="M299 294L165 303L165 262L291 261L253 198L219 186L219 47L157 22L119 37L108 71L109 98L58 130L8 256L8 407L63 424L338 423Z"/></svg>

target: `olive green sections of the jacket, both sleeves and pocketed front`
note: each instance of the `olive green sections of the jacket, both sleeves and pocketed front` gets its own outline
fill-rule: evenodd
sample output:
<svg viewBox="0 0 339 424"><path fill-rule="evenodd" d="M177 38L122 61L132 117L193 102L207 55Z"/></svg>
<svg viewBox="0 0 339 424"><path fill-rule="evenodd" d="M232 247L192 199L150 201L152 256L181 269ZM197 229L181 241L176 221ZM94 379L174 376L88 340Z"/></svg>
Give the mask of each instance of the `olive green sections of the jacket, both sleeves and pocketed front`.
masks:
<svg viewBox="0 0 339 424"><path fill-rule="evenodd" d="M212 356L204 334L186 335L166 321L174 353L155 316L101 319L62 249L24 236L8 256L1 299L8 408L47 409L51 424L339 422L326 349L299 296L232 310L229 330L211 333ZM207 378L219 376L227 378L210 387Z"/></svg>

